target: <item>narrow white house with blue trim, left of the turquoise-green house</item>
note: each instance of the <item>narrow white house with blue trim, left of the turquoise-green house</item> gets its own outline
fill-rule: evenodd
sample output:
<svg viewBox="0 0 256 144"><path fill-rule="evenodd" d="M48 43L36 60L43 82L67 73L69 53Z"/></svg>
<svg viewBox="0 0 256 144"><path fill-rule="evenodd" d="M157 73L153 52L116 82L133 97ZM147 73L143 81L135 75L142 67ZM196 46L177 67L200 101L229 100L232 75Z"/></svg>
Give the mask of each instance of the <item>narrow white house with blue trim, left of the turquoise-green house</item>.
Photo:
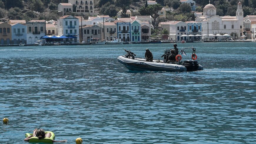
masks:
<svg viewBox="0 0 256 144"><path fill-rule="evenodd" d="M117 21L114 21L114 23ZM121 22L118 21L117 23L117 37L124 42L131 41L131 23L130 22Z"/></svg>

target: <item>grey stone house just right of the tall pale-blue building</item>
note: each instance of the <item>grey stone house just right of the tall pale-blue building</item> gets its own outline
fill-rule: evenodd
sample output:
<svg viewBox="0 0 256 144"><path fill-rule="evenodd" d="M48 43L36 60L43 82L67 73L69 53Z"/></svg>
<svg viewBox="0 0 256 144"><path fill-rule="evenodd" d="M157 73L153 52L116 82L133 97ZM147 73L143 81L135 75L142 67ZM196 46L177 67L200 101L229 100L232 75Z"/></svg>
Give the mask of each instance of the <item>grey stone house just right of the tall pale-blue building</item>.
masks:
<svg viewBox="0 0 256 144"><path fill-rule="evenodd" d="M82 35L81 35L81 30L83 31ZM82 39L82 41L84 42L91 42L92 38L101 39L100 37L101 29L97 25L86 25L86 26L83 26L82 29L80 27L79 33L80 33L79 39Z"/></svg>

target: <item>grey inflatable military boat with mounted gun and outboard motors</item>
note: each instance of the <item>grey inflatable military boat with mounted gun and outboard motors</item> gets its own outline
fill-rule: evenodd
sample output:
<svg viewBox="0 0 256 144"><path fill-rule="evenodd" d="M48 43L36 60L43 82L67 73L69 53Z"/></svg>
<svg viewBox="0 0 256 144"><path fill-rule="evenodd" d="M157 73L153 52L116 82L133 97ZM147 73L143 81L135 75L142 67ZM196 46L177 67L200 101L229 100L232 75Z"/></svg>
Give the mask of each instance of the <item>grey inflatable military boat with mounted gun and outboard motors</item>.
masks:
<svg viewBox="0 0 256 144"><path fill-rule="evenodd" d="M182 48L180 54L186 55L184 52L184 49ZM168 71L168 72L187 72L187 71L198 71L203 70L202 65L198 64L196 61L197 55L195 54L195 48L187 48L187 49L193 49L192 58L191 60L186 60L182 62L182 56L178 54L176 56L175 62L168 61L168 56L170 54L170 49L164 50L164 59L163 60L153 60L152 62L146 61L146 59L143 58L137 58L135 57L136 54L134 54L131 51L127 51L127 54L123 56L119 56L117 58L118 62L121 64L124 64L124 66L132 71Z"/></svg>

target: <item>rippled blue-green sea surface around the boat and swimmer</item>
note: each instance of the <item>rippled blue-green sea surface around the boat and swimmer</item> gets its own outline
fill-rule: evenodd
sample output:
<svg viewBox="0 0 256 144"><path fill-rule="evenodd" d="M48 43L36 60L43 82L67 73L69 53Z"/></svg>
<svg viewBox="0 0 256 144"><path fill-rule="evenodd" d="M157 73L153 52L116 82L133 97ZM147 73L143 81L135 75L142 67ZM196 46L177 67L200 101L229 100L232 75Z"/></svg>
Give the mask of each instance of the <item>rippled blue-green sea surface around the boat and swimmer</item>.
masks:
<svg viewBox="0 0 256 144"><path fill-rule="evenodd" d="M172 44L0 47L1 144L43 128L74 144L255 144L256 42L185 43L197 72L133 72L126 48L160 59ZM189 59L188 56L182 59Z"/></svg>

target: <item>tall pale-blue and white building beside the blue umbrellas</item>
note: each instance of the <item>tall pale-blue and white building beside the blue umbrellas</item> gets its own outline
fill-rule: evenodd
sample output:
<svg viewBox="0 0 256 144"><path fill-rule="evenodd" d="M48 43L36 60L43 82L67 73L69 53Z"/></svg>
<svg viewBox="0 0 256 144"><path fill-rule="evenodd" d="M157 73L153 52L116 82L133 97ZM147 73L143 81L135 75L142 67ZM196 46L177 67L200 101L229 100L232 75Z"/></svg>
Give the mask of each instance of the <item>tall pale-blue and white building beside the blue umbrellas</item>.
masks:
<svg viewBox="0 0 256 144"><path fill-rule="evenodd" d="M67 15L62 16L57 20L57 33L58 35L64 35L70 37L68 42L77 43L79 42L79 20L78 18ZM66 40L67 42L67 40Z"/></svg>

